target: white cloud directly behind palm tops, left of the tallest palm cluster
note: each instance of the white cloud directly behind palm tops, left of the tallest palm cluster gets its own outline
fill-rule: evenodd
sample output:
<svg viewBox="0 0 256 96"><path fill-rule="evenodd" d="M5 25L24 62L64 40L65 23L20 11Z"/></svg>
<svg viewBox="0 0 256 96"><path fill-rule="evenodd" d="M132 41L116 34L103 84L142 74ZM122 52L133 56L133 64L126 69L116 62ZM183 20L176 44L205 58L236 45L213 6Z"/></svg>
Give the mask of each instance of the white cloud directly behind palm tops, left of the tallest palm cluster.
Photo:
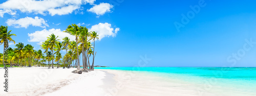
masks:
<svg viewBox="0 0 256 96"><path fill-rule="evenodd" d="M50 29L50 30L42 30L42 31L36 31L34 33L29 33L28 36L30 39L28 39L29 42L38 42L37 44L42 44L42 42L47 40L47 37L49 35L54 34L56 36L59 36L57 39L60 39L60 41L63 41L62 39L65 37L69 37L70 40L75 40L75 36L72 36L68 33L65 33L61 31L60 29Z"/></svg>

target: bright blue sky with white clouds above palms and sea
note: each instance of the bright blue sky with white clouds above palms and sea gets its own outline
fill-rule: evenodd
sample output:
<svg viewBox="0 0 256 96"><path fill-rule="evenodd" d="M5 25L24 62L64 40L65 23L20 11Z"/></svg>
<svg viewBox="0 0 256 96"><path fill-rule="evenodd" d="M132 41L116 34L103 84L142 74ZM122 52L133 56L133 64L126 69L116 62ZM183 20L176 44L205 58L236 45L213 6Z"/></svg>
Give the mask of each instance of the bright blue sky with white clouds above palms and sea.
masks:
<svg viewBox="0 0 256 96"><path fill-rule="evenodd" d="M255 3L9 0L0 1L0 24L17 35L16 43L31 44L34 50L52 33L74 39L62 32L72 23L87 27L99 34L95 65L256 67Z"/></svg>

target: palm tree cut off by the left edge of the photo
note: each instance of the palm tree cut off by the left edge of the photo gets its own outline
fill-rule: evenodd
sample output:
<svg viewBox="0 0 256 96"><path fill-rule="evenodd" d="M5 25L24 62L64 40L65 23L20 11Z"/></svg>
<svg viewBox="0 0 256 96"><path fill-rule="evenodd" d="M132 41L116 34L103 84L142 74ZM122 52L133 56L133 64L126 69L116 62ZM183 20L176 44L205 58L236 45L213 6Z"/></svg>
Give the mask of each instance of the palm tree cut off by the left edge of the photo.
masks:
<svg viewBox="0 0 256 96"><path fill-rule="evenodd" d="M12 41L15 44L15 41L11 38L11 36L16 36L16 35L15 34L10 34L10 33L11 33L11 30L8 32L8 27L4 27L4 26L0 27L0 39L1 39L0 43L3 44L5 41L7 41L7 47L9 46L8 45L8 40L9 40L9 42ZM6 46L4 45L3 54L5 54L5 47ZM5 56L3 56L3 64L4 64L4 67L6 67L4 58L5 58Z"/></svg>

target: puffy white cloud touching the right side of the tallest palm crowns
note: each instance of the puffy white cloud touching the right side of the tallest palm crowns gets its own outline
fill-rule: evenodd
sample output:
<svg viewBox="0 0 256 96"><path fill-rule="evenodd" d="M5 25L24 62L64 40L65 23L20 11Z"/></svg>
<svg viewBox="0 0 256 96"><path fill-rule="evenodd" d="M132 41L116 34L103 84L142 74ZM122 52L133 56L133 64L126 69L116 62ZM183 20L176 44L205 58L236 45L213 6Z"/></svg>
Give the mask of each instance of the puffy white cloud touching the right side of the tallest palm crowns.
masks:
<svg viewBox="0 0 256 96"><path fill-rule="evenodd" d="M104 37L115 37L117 35L117 32L119 31L119 28L114 28L111 27L111 24L108 22L105 23L99 23L98 25L92 26L89 31L95 31L99 35L99 40L101 40Z"/></svg>

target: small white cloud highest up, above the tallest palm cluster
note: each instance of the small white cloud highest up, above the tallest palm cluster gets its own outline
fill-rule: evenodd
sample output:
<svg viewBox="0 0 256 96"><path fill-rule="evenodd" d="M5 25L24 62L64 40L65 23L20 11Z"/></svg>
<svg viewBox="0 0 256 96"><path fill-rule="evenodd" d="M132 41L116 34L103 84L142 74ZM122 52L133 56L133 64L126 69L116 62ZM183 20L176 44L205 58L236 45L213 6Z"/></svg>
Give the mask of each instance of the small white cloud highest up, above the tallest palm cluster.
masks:
<svg viewBox="0 0 256 96"><path fill-rule="evenodd" d="M110 5L108 3L100 3L99 5L95 5L87 11L96 13L99 16L105 14L106 12L110 12L110 9L112 9L113 7L113 5Z"/></svg>

